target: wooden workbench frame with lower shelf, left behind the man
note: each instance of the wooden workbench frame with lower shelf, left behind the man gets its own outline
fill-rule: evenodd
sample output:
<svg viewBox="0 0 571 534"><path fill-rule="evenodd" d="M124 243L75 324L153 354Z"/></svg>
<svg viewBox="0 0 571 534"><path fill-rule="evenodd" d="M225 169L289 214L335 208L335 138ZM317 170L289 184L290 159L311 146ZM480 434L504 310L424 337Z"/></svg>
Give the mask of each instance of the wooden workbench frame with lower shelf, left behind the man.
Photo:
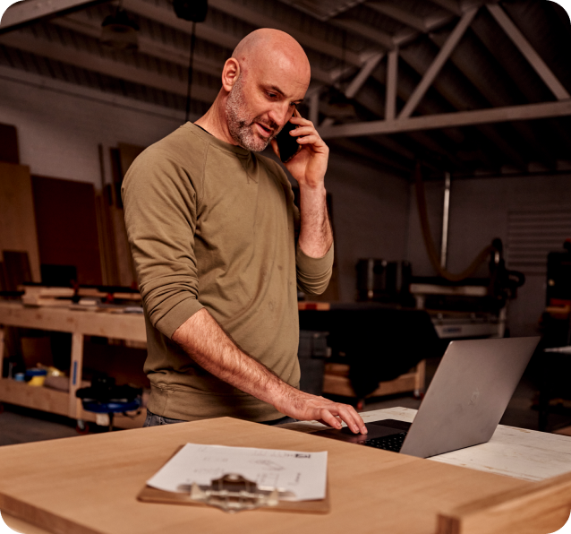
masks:
<svg viewBox="0 0 571 534"><path fill-rule="evenodd" d="M116 340L147 342L142 314L112 313L108 310L35 307L0 301L0 325L4 328L20 327L72 334L72 364L69 369L68 392L47 387L32 387L27 383L2 378L0 374L0 402L41 409L82 421L96 420L96 414L82 409L81 401L75 397L75 392L81 387L84 337L101 336ZM3 368L4 358L4 328L0 329L0 369ZM141 361L141 367L142 365ZM114 425L122 428L141 427L145 417L143 409L136 418L115 418Z"/></svg>

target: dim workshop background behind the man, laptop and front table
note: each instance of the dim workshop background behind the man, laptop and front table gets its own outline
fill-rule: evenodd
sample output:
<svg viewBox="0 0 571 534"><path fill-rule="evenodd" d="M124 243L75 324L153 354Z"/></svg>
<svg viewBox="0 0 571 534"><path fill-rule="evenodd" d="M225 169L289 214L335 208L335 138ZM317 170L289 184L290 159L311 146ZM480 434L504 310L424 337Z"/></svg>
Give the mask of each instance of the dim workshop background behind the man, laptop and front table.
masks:
<svg viewBox="0 0 571 534"><path fill-rule="evenodd" d="M2 0L2 11L0 455L143 425L124 176L207 112L226 58L259 28L302 45L311 83L297 108L329 147L335 258L322 295L297 294L300 388L361 414L418 409L450 342L538 336L500 423L571 436L571 4Z"/></svg>

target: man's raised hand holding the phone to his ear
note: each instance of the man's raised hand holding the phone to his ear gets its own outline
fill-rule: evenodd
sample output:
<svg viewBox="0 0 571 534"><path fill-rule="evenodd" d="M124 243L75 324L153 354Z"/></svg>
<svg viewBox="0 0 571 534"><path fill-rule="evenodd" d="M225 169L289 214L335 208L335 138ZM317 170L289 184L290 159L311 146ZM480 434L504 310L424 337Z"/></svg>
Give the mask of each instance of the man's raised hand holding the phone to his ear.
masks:
<svg viewBox="0 0 571 534"><path fill-rule="evenodd" d="M315 126L311 121L303 118L297 111L290 119L294 129L287 132L286 127L277 135L277 139L272 140L272 148L277 156L284 147L285 168L297 180L300 187L307 185L311 189L323 187L325 172L328 168L329 149L323 142ZM289 140L285 136L291 137L301 148L296 152ZM293 154L293 155L292 155ZM289 157L289 158L288 158Z"/></svg>

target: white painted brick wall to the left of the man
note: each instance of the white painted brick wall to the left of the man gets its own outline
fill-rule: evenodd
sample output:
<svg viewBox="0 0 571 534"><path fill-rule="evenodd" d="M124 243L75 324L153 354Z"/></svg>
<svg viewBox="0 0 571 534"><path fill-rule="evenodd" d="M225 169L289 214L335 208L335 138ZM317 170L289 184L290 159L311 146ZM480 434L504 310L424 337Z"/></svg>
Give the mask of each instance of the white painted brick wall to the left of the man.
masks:
<svg viewBox="0 0 571 534"><path fill-rule="evenodd" d="M0 122L18 129L20 161L32 174L101 185L98 144L148 145L182 124L183 114L0 67Z"/></svg>

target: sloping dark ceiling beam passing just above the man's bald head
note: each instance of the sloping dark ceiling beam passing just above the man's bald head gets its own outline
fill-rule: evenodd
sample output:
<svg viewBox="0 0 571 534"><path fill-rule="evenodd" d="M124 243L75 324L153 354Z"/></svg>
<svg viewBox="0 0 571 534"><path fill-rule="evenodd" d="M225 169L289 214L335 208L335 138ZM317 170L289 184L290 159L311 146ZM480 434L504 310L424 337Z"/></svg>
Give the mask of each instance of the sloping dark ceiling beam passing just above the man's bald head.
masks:
<svg viewBox="0 0 571 534"><path fill-rule="evenodd" d="M251 9L243 4L238 4L233 0L209 0L209 6L260 28L274 28L276 30L285 31L303 47L311 48L321 52L322 54L327 54L328 56L337 57L337 59L341 59L351 65L360 67L366 59L359 54L355 54L351 50L344 50L343 47L337 47L337 45L333 43L318 39L302 30L292 28L291 26L277 21L264 13L260 13L259 10ZM300 16L302 15L300 14Z"/></svg>

